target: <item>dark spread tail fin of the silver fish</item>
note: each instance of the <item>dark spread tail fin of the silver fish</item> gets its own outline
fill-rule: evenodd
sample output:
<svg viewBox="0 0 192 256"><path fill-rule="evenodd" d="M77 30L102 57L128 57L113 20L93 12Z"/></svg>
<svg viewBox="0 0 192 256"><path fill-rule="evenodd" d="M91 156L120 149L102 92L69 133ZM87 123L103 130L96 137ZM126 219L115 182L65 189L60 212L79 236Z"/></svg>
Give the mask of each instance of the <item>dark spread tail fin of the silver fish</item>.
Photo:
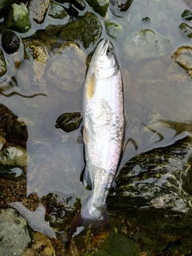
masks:
<svg viewBox="0 0 192 256"><path fill-rule="evenodd" d="M110 217L106 210L102 211L102 218L98 219L90 215L88 208L85 207L72 223L70 236L75 237L80 233L86 233L87 230L107 231L110 229Z"/></svg>

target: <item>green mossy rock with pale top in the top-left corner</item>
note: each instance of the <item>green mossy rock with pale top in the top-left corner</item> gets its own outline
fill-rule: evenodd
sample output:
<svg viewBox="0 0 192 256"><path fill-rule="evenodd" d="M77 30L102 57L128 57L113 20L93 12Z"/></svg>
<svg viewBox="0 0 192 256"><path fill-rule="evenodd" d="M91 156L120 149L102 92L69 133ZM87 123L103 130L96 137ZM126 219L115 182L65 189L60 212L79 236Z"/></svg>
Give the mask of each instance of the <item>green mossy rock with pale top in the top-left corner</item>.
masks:
<svg viewBox="0 0 192 256"><path fill-rule="evenodd" d="M19 33L26 33L31 28L29 11L24 3L20 5L14 3L7 14L5 26L7 29L15 30Z"/></svg>

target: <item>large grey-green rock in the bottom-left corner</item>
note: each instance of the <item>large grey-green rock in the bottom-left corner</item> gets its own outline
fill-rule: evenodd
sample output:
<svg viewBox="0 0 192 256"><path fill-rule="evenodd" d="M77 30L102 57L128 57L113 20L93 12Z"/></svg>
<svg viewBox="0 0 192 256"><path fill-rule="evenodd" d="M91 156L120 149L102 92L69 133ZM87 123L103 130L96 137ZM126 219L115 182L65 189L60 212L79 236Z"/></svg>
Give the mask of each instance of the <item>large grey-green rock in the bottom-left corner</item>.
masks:
<svg viewBox="0 0 192 256"><path fill-rule="evenodd" d="M1 209L0 237L2 255L20 256L31 241L26 219L14 209Z"/></svg>

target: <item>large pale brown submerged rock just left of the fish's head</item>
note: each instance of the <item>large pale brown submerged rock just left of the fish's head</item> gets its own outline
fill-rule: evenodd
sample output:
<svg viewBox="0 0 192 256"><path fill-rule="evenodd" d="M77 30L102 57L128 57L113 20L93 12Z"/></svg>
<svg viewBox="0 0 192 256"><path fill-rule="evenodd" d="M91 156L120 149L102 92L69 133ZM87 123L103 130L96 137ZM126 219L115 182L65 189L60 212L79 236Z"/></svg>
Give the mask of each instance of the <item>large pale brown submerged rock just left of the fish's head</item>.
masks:
<svg viewBox="0 0 192 256"><path fill-rule="evenodd" d="M86 54L74 42L64 43L52 58L46 73L48 81L62 90L77 91L82 87L86 72Z"/></svg>

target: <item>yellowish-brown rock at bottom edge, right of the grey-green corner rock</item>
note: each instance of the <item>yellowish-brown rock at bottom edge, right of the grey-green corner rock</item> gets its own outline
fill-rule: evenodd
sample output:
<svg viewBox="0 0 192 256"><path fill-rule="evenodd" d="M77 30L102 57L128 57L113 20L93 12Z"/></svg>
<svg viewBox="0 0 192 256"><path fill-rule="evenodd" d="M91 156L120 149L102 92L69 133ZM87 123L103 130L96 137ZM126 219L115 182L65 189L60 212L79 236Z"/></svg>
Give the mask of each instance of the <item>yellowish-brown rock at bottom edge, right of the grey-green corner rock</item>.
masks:
<svg viewBox="0 0 192 256"><path fill-rule="evenodd" d="M50 238L47 238L45 234L34 232L32 245L22 253L22 256L29 255L55 256Z"/></svg>

